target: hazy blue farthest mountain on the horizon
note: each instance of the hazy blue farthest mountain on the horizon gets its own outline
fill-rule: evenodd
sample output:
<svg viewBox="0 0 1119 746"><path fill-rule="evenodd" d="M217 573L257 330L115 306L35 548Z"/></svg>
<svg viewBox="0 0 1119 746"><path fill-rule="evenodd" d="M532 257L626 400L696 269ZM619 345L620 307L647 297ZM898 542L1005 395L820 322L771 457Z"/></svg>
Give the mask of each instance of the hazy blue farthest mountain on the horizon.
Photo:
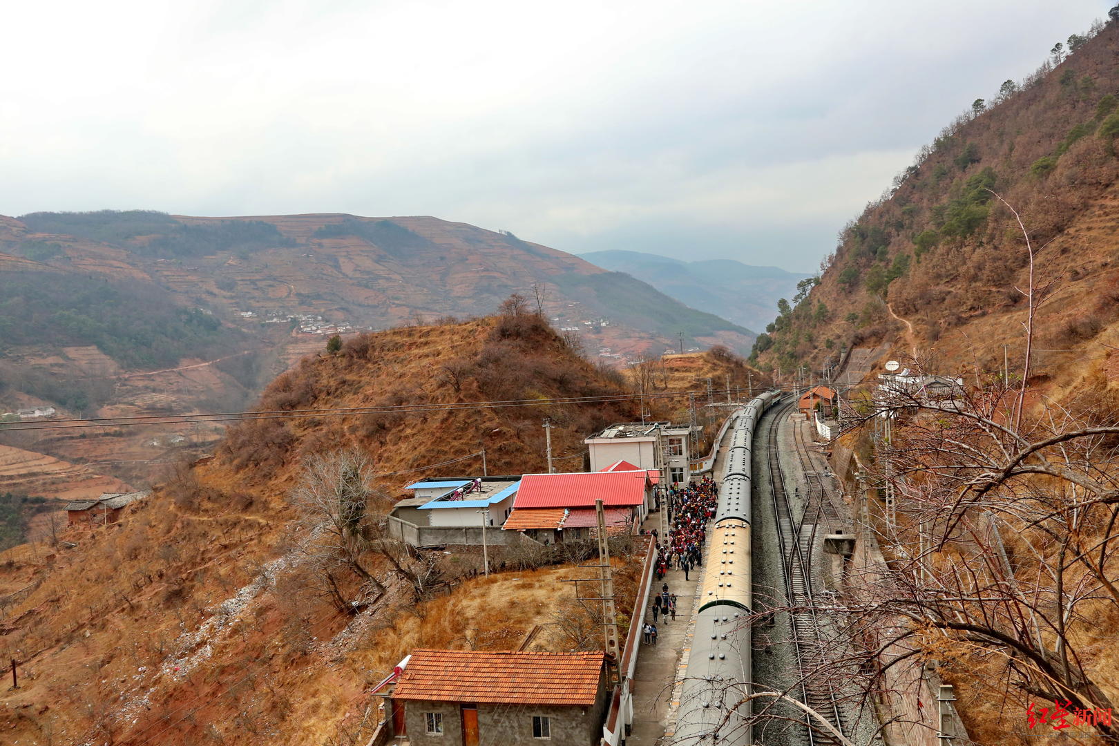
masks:
<svg viewBox="0 0 1119 746"><path fill-rule="evenodd" d="M684 262L643 252L590 252L580 256L604 270L624 272L680 303L761 331L777 317L778 299L791 299L810 275L758 267L734 259Z"/></svg>

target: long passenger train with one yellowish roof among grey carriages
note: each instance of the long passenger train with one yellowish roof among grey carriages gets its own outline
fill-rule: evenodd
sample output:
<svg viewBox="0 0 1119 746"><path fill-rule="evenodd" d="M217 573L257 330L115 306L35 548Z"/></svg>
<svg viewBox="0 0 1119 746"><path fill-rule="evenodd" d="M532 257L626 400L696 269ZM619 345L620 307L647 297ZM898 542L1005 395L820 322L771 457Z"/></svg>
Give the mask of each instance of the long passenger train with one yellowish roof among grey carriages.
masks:
<svg viewBox="0 0 1119 746"><path fill-rule="evenodd" d="M745 682L752 680L752 640L746 622L753 592L751 453L762 414L780 396L780 391L767 391L731 415L731 447L704 549L699 612L676 718L674 743L680 746L752 743L747 719L753 708L739 706L749 693Z"/></svg>

